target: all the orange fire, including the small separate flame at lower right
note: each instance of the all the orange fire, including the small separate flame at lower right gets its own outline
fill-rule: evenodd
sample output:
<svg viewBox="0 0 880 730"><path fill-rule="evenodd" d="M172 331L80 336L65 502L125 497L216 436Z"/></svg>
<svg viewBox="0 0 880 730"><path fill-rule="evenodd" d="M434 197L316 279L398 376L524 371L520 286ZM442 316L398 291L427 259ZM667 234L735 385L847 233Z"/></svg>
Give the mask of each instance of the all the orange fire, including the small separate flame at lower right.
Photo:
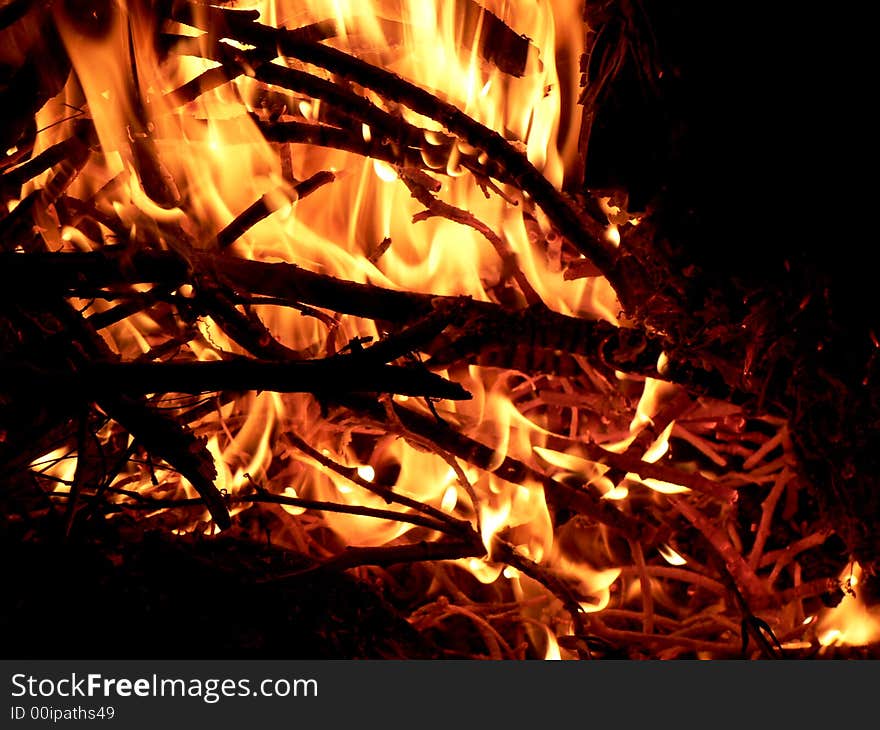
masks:
<svg viewBox="0 0 880 730"><path fill-rule="evenodd" d="M176 254L194 271L198 262L215 259L292 264L292 270L343 282L345 297L361 296L361 285L430 295L430 311L404 327L323 303L297 301L294 308L280 297L248 295L245 287L215 286L226 282L209 263L192 283L167 291L132 287L144 299L155 296L158 306L118 319L111 316L112 296L77 301L89 316L110 320L100 329L103 345L126 363L179 357L236 364L255 349L266 360L292 364L368 358L402 333L430 329L442 307L455 323L441 328L442 336L452 339L449 330L466 330L455 319L459 310L474 303L619 324L621 306L607 279L563 276L572 261L584 263L583 256L534 196L514 184L516 176L505 178L503 160L452 133L448 110L432 116L414 102L392 103L369 84L294 57L278 40L278 29L306 29L320 36L321 48L396 74L503 139L559 191L578 164L581 107L572 77L584 52L581 5L278 0L221 10L180 2L173 18L157 18L153 4L122 0L98 27L91 16L56 4L52 12L74 73L37 116L45 132L34 154L71 136L86 140L88 162L67 192L86 201L88 214L63 226L41 226L45 246L83 252L115 247L126 256L158 250ZM258 19L255 33L278 40L270 44L277 58L256 38L250 43L206 32L212 13L247 10L256 11L246 16ZM234 24L227 31L235 36ZM487 45L499 33L509 35L516 59ZM47 172L30 180L22 199L51 179ZM610 198L599 202L608 218L604 239L616 250L624 226L638 220ZM16 204L7 202L10 212ZM82 222L89 216L93 225ZM545 338L539 349L553 356L564 354L553 346L559 333L547 329L536 326L532 339ZM500 349L515 339L504 331L491 334ZM440 338L439 330L433 337ZM674 602L659 579L681 579L697 562L692 553L685 558L667 543L655 544L649 558L659 556L666 565L647 566L635 547L638 536L621 545L602 520L557 524L559 514L577 510L554 500L560 494L580 499L615 524L648 499L691 491L609 459L625 457L643 467L668 460L676 421L668 419L658 433L653 429L677 386L619 373L614 385L641 391L606 419L596 417L595 404L583 394L562 386L552 394L556 403L542 401L546 380L525 374L527 368L471 356L436 365L424 357L423 345L403 347L390 361L458 384L468 398L367 389L367 397L356 392L344 403L348 410L341 415L326 388L230 389L184 405L169 391L150 404L187 418L184 406L191 407L190 450L213 462L210 481L218 499L232 518L258 503L275 509L273 515L295 526L288 547L311 549L312 557L324 559L344 555L345 548L442 546L451 542L446 529L462 543L462 535L470 539L468 551L443 557L447 567L500 586L500 594L518 601L537 656L568 656L573 642L586 640L590 617L609 608L627 621L637 615L650 635L655 603ZM598 392L613 390L585 359L573 357L572 367L580 367ZM666 367L664 354L657 372ZM431 439L413 423L448 427L458 438ZM69 493L77 464L63 448L31 469ZM212 532L216 514L207 499L199 503L198 479L179 471L129 463L109 485L112 499L183 500L191 509L176 522L169 518L171 529ZM637 570L624 568L636 555ZM714 600L724 587L701 567L685 590L708 591ZM880 638L880 619L853 601L845 599L819 620L823 645ZM641 614L633 608L639 602Z"/></svg>

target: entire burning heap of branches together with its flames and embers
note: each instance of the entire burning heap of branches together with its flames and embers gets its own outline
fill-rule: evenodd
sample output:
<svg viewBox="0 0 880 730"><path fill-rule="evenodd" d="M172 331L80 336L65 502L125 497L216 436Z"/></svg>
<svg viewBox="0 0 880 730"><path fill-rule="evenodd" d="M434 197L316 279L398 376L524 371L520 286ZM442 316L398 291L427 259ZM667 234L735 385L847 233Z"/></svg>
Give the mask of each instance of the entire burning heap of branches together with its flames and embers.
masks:
<svg viewBox="0 0 880 730"><path fill-rule="evenodd" d="M578 3L26 5L3 32L54 71L4 95L15 529L270 534L302 562L259 583L356 569L438 656L877 640L826 608L876 555L812 501L770 313L694 311L650 211L572 179Z"/></svg>

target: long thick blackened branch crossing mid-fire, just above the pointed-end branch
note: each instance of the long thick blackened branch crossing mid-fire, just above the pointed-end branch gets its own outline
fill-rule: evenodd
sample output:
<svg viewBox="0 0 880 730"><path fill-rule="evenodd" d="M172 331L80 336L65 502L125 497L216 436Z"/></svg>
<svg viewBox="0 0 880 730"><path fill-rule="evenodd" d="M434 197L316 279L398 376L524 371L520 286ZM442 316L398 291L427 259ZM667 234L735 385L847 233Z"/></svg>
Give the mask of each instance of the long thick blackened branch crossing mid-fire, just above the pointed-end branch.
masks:
<svg viewBox="0 0 880 730"><path fill-rule="evenodd" d="M385 289L317 274L294 264L196 252L188 264L171 252L131 253L110 248L32 256L0 253L0 282L7 296L17 299L39 296L47 289L82 295L85 287L88 295L94 295L96 289L121 283L180 285L189 280L191 265L203 273L213 273L234 291L272 297L276 303L308 304L385 322L406 323L431 314L437 307L448 308L451 321L472 323L462 330L452 349L435 355L429 363L432 367L446 367L499 342L521 342L538 350L586 356L600 353L600 358L616 369L664 377L656 372L661 341L637 329L544 309L508 311L469 297L437 297ZM689 383L692 373L698 376L698 371L682 368L678 377Z"/></svg>

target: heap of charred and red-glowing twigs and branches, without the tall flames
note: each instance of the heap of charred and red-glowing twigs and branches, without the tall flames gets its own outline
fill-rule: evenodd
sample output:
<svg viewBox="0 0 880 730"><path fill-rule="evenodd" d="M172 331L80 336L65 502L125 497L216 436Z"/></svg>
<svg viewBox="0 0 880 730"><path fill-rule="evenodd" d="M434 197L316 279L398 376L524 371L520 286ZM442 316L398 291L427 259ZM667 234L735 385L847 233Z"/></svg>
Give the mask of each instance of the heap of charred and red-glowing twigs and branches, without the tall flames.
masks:
<svg viewBox="0 0 880 730"><path fill-rule="evenodd" d="M91 196L70 193L106 153L80 108L63 123L65 138L33 156L23 144L0 179L11 203L0 220L7 519L62 514L73 536L125 513L144 529L211 534L233 526L257 540L269 535L308 557L308 570L356 568L411 611L416 629L439 636L450 656L552 654L551 636L581 657L769 657L818 648L813 617L843 595L846 546L819 519L786 419L745 402L759 386L733 387L742 383L739 353L725 361L683 336L684 325L654 326L682 312L646 294L668 273L662 252L650 248L650 226L630 227L615 248L592 201L560 193L514 140L324 43L333 23L277 29L255 12L186 2L152 13L163 54L216 62L165 94L165 103L183 107L247 75L263 89L250 120L282 167L292 145L383 161L424 206L421 217L474 228L505 262L505 275L495 301L477 301L237 254L242 237L279 209L332 194L330 170L304 180L290 174L282 202L267 193L219 232L143 213L132 220L115 205L128 173ZM484 45L486 62L515 73L532 49L486 17L508 49L499 55L497 45ZM198 36L181 35L179 23ZM146 101L135 101L143 111ZM305 118L298 101L320 101L320 117ZM400 107L445 131L429 134ZM146 116L130 129L144 191L186 217L198 191L166 174L162 140ZM539 213L546 216L555 241L536 236L534 244L559 256L560 268L569 264L569 276L606 277L628 326L548 309L504 237L440 197L438 178L453 151L475 185L518 204L534 230ZM71 244L71 229L88 244ZM666 293L676 281L667 279ZM261 318L268 306L314 319L323 337L306 348L285 343ZM354 318L371 320L378 339L340 340L340 323ZM138 356L111 344L123 330L138 332L128 335ZM229 348L212 341L221 337ZM206 351L213 359L201 356ZM470 397L469 368L544 434L540 448L499 455L480 425L452 407ZM271 429L270 467L232 489L235 480L218 477L217 454L234 452L251 409L265 407L254 391L291 394L281 409L288 415ZM638 415L655 391L651 412ZM319 425L303 431L303 414ZM366 474L348 465L354 453L369 457L399 440L448 465L456 502L396 490L393 468ZM363 499L288 488L306 473L332 474ZM522 526L484 529L490 474L507 488L543 490L553 556L529 547ZM347 546L328 529L334 513L400 529L383 545ZM504 575L482 583L465 566ZM413 584L424 589L417 597Z"/></svg>

